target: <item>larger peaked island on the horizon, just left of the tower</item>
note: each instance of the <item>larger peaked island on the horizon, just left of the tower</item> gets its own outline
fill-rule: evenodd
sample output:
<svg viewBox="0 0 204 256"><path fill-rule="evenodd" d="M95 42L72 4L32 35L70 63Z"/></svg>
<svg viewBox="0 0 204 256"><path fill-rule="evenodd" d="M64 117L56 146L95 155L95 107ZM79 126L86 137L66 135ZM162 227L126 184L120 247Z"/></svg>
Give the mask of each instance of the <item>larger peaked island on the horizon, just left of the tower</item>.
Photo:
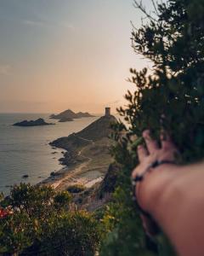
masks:
<svg viewBox="0 0 204 256"><path fill-rule="evenodd" d="M58 114L51 114L49 116L50 119L58 119L59 122L68 122L68 121L72 121L73 119L81 119L81 118L88 118L88 117L94 117L94 115L88 112L75 113L71 109L67 109Z"/></svg>

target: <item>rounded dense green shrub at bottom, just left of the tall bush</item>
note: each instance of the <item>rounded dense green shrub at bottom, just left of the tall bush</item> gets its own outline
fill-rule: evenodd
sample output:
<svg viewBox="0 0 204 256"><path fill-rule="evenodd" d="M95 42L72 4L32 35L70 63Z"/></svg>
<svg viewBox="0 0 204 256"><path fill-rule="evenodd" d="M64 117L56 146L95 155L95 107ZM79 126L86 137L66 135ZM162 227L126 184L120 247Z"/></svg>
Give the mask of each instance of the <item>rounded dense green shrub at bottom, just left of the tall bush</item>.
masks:
<svg viewBox="0 0 204 256"><path fill-rule="evenodd" d="M42 236L47 255L94 255L99 245L96 220L88 212L70 212L55 218Z"/></svg>

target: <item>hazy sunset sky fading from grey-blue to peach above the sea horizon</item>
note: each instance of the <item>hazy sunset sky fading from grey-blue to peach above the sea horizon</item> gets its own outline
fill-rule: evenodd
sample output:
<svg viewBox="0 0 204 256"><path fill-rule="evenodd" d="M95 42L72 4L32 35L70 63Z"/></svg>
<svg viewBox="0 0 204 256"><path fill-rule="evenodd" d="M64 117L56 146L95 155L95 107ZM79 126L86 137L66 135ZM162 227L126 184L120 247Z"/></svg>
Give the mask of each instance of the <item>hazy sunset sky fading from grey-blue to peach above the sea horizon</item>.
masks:
<svg viewBox="0 0 204 256"><path fill-rule="evenodd" d="M151 9L151 0L144 0ZM133 0L0 0L0 113L102 113L125 104Z"/></svg>

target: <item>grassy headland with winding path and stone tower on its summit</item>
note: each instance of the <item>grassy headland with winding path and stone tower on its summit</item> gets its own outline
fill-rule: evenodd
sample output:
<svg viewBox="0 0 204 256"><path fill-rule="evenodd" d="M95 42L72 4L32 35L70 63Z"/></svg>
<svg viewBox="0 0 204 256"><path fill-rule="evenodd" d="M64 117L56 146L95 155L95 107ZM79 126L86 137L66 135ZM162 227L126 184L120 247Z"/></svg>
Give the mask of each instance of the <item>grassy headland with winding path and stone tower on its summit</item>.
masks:
<svg viewBox="0 0 204 256"><path fill-rule="evenodd" d="M54 189L64 190L71 185L83 185L90 188L101 182L111 164L110 146L111 124L116 118L106 108L105 115L95 120L82 131L68 137L60 137L51 146L66 150L59 161L65 167L55 172L42 183L52 185Z"/></svg>

